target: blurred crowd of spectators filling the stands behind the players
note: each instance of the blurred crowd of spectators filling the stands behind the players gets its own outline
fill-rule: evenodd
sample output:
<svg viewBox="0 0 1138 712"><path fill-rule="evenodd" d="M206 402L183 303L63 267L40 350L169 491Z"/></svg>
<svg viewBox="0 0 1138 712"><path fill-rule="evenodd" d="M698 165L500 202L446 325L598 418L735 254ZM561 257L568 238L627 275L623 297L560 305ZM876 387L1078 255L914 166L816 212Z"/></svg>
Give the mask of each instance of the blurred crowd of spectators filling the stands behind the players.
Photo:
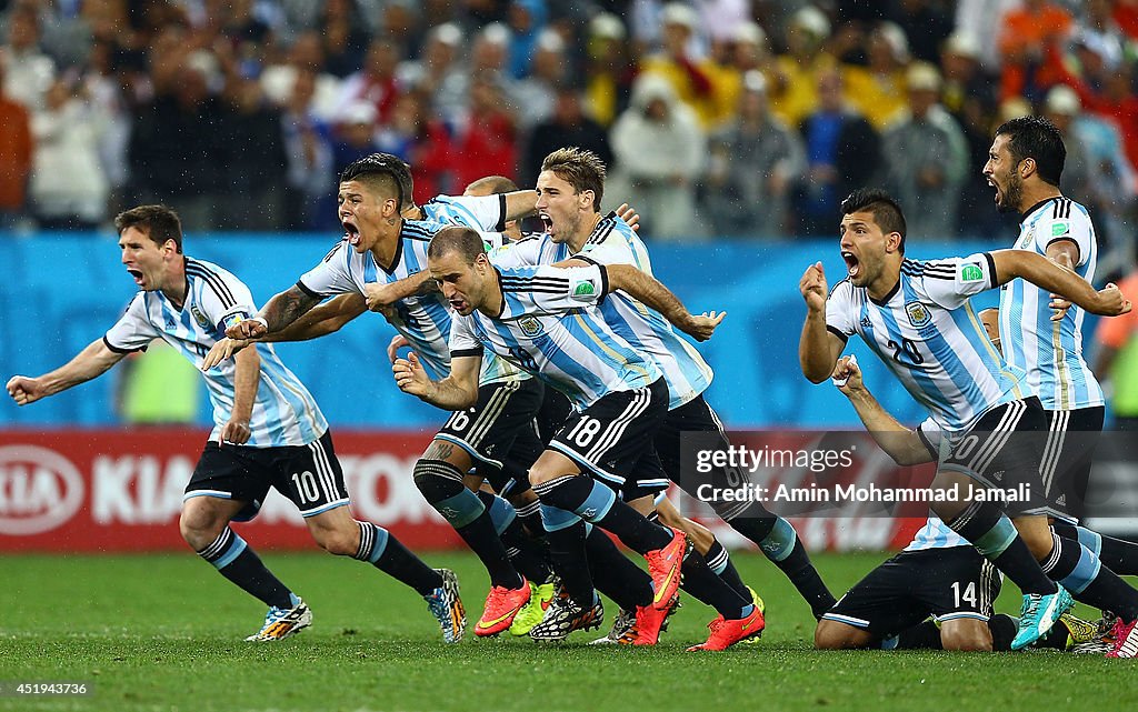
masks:
<svg viewBox="0 0 1138 712"><path fill-rule="evenodd" d="M0 227L165 201L190 230L336 229L384 150L418 200L575 144L657 240L1006 235L992 130L1064 132L1064 191L1133 234L1138 0L0 0ZM1014 221L1013 221L1014 224Z"/></svg>

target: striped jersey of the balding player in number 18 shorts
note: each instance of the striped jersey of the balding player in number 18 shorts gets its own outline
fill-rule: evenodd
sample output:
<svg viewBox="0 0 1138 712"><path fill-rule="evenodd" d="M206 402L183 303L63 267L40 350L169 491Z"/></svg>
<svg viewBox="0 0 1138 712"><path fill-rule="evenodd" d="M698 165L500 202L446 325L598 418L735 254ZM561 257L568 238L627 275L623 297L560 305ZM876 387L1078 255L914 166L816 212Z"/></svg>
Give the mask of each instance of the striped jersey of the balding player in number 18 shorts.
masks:
<svg viewBox="0 0 1138 712"><path fill-rule="evenodd" d="M604 267L500 270L502 313L455 315L452 356L489 350L560 390L578 409L657 381L660 370L605 322Z"/></svg>

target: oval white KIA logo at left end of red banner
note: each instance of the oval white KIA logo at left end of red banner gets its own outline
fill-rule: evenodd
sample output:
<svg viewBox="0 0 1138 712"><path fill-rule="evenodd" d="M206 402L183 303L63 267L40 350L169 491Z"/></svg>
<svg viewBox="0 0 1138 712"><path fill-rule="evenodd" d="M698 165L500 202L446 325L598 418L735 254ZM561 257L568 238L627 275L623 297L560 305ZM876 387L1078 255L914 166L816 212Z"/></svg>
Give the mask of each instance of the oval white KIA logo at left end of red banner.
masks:
<svg viewBox="0 0 1138 712"><path fill-rule="evenodd" d="M66 457L34 445L0 447L0 535L50 531L83 503L83 478Z"/></svg>

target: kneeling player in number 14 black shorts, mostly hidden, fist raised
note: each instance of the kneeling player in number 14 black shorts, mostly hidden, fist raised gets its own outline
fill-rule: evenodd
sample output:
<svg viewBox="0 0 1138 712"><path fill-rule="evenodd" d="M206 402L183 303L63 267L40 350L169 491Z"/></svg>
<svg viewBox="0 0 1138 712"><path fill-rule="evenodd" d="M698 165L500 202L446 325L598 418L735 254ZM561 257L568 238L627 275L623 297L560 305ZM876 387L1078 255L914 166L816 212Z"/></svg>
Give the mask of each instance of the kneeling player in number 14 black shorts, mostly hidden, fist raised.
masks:
<svg viewBox="0 0 1138 712"><path fill-rule="evenodd" d="M834 367L833 382L850 400L866 430L899 465L934 462L938 444L890 415L861 380L852 356ZM1000 590L996 568L937 516L930 516L897 556L858 581L823 615L814 632L819 649L881 647L946 651L1009 651L1019 621L993 614ZM1064 613L1034 647L1105 653L1108 626Z"/></svg>

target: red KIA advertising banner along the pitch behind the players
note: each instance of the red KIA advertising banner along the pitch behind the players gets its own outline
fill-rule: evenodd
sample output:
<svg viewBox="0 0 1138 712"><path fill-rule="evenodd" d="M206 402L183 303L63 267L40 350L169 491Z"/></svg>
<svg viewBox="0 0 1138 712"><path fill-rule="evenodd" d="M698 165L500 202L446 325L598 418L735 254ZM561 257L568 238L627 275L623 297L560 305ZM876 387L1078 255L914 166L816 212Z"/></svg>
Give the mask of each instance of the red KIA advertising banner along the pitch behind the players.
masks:
<svg viewBox="0 0 1138 712"><path fill-rule="evenodd" d="M206 436L206 430L183 428L0 430L0 553L183 549L178 530L182 494ZM358 519L389 529L413 549L462 546L412 481L415 458L431 433L333 436ZM748 545L723 522L699 519L726 546ZM792 521L814 550L901 548L923 523L881 516ZM277 492L253 522L234 527L262 549L315 547L296 508Z"/></svg>

